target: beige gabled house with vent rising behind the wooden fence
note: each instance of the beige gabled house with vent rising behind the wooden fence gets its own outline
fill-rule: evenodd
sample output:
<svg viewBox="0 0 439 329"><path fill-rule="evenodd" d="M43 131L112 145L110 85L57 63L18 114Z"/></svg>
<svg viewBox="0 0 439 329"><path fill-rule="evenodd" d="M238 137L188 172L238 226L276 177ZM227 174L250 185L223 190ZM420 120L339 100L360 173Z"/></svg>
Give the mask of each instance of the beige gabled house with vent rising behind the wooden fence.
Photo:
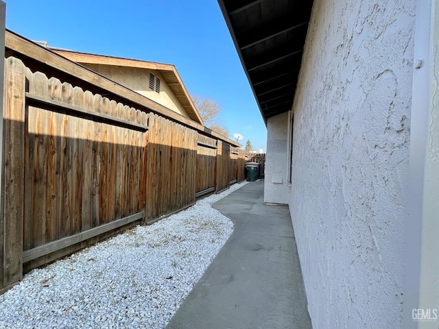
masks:
<svg viewBox="0 0 439 329"><path fill-rule="evenodd" d="M174 65L50 49L184 117L203 124Z"/></svg>

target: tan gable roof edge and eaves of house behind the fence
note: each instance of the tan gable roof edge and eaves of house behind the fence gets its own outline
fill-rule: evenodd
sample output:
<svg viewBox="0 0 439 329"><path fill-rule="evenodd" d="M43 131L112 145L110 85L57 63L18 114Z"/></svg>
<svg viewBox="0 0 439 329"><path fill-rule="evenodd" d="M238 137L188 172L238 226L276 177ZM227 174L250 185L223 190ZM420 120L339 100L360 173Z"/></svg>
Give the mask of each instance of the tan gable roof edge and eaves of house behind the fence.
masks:
<svg viewBox="0 0 439 329"><path fill-rule="evenodd" d="M58 55L77 63L127 66L137 69L158 71L162 75L166 84L172 90L178 101L180 101L182 107L189 115L189 118L193 121L204 124L200 117L200 114L198 113L198 110L195 108L195 105L193 104L193 101L186 90L185 84L183 84L181 77L178 74L176 66L172 64L145 62L143 60L132 60L128 58L96 55L93 53L82 53L79 51L57 49L52 47L49 47L49 49L58 53Z"/></svg>

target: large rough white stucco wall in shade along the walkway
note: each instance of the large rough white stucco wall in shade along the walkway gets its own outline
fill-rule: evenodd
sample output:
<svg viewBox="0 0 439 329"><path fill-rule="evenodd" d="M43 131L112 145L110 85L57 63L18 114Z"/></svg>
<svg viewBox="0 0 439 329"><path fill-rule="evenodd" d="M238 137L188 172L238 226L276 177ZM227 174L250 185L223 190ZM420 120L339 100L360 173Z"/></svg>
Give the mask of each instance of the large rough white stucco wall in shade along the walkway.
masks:
<svg viewBox="0 0 439 329"><path fill-rule="evenodd" d="M401 328L415 1L315 0L289 197L313 328Z"/></svg>

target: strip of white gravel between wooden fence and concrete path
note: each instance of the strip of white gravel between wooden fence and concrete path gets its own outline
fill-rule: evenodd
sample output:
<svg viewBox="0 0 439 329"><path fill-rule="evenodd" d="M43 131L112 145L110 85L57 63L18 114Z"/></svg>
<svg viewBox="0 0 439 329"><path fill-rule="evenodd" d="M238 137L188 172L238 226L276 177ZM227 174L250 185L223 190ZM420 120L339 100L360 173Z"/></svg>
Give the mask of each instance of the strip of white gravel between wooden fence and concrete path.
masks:
<svg viewBox="0 0 439 329"><path fill-rule="evenodd" d="M0 295L0 328L164 328L233 232L227 191L27 273Z"/></svg>

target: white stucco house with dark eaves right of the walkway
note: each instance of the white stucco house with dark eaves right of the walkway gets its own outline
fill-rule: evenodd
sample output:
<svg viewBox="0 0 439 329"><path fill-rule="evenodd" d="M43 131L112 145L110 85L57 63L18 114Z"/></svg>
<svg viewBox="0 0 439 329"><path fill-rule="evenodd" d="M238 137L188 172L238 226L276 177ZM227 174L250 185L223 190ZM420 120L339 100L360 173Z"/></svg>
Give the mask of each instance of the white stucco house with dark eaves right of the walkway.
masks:
<svg viewBox="0 0 439 329"><path fill-rule="evenodd" d="M438 328L435 1L218 2L267 125L265 202L289 204L313 328Z"/></svg>

